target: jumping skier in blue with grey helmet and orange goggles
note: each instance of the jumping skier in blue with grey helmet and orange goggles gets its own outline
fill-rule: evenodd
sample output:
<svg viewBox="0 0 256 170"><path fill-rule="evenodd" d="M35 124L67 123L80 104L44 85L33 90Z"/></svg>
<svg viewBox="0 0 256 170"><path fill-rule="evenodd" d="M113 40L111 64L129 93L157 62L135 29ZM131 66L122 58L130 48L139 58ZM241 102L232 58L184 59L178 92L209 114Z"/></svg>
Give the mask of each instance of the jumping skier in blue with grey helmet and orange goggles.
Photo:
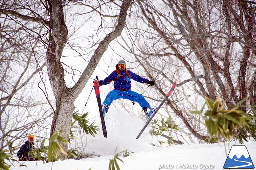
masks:
<svg viewBox="0 0 256 170"><path fill-rule="evenodd" d="M130 101L137 102L140 104L143 111L147 114L148 117L154 112L155 108L151 108L148 101L139 93L136 93L130 88L131 80L133 79L140 83L147 83L150 86L154 86L155 83L153 81L149 81L130 70L126 69L126 62L124 60L120 60L116 65L116 70L113 71L109 76L104 80L99 80L99 85L106 85L110 82L114 82L114 90L110 91L106 96L105 101L102 103L103 106L103 114L108 112L109 106L116 99L129 99Z"/></svg>

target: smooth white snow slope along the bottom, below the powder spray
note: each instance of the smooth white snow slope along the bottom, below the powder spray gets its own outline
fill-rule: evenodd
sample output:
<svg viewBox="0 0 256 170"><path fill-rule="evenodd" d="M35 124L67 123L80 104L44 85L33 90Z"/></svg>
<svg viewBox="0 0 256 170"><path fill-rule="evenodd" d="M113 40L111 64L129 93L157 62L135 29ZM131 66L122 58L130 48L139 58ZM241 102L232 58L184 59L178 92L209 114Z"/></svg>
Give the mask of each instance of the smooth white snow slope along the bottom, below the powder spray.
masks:
<svg viewBox="0 0 256 170"><path fill-rule="evenodd" d="M135 145L136 142L133 143ZM141 142L137 146L145 148ZM147 144L144 144L147 145ZM227 145L226 145L227 146ZM252 162L256 162L256 145L246 145ZM132 149L131 149L132 150ZM54 170L107 170L109 159L113 155L86 158L82 160L65 160L53 163ZM181 145L172 147L158 147L153 150L137 150L135 154L122 158L124 163L119 162L121 170L158 170L161 169L223 169L227 156L224 144L197 144ZM36 163L38 165L36 165ZM14 163L11 170L50 170L52 164L39 162L25 162L28 167L18 167Z"/></svg>

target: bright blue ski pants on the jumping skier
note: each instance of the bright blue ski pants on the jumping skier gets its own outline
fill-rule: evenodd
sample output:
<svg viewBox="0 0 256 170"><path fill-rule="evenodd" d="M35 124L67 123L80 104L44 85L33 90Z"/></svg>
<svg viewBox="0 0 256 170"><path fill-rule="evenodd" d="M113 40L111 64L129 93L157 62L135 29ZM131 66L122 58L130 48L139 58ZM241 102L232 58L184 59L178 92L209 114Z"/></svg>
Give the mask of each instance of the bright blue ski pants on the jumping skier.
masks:
<svg viewBox="0 0 256 170"><path fill-rule="evenodd" d="M102 105L105 108L109 108L109 106L111 105L111 103L114 100L120 99L120 98L128 99L133 102L137 102L137 103L139 103L141 108L143 108L143 107L150 108L148 101L141 94L136 93L132 90L122 91L119 89L114 89L114 90L110 91L109 94L106 96ZM108 109L106 110L106 112L107 111L108 111Z"/></svg>

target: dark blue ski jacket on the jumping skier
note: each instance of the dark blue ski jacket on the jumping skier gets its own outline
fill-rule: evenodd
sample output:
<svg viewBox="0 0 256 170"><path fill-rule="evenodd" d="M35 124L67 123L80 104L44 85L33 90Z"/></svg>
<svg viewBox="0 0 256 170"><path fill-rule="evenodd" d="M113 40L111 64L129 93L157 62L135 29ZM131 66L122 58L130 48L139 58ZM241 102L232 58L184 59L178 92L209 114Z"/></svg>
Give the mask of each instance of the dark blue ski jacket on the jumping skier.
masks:
<svg viewBox="0 0 256 170"><path fill-rule="evenodd" d="M109 84L113 81L115 89L129 90L132 87L130 79L133 79L140 83L144 83L146 80L145 78L133 73L130 70L128 70L128 73L130 78L126 75L126 69L124 71L120 71L120 78L117 79L118 74L113 71L109 76L106 77L106 79L102 80L102 85Z"/></svg>

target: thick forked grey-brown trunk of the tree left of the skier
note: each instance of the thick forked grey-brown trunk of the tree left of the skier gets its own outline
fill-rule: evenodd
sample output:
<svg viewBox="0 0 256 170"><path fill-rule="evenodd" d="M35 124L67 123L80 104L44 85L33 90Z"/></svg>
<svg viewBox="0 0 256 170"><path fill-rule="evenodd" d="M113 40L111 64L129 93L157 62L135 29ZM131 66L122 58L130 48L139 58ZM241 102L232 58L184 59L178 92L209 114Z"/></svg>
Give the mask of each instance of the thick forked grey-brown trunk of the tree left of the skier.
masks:
<svg viewBox="0 0 256 170"><path fill-rule="evenodd" d="M85 71L73 88L67 88L64 81L64 69L60 62L63 48L67 41L67 27L63 15L61 0L52 0L50 4L50 43L47 49L46 60L50 84L56 98L56 109L52 121L51 134L63 129L61 135L68 141L69 131L72 123L73 107L76 97L81 93L87 81L95 70L103 53L107 50L112 40L119 37L126 25L126 15L128 8L132 5L132 0L124 0L120 9L118 24L99 44ZM67 152L67 144L61 143L61 147ZM59 153L59 158L64 160L66 155Z"/></svg>

